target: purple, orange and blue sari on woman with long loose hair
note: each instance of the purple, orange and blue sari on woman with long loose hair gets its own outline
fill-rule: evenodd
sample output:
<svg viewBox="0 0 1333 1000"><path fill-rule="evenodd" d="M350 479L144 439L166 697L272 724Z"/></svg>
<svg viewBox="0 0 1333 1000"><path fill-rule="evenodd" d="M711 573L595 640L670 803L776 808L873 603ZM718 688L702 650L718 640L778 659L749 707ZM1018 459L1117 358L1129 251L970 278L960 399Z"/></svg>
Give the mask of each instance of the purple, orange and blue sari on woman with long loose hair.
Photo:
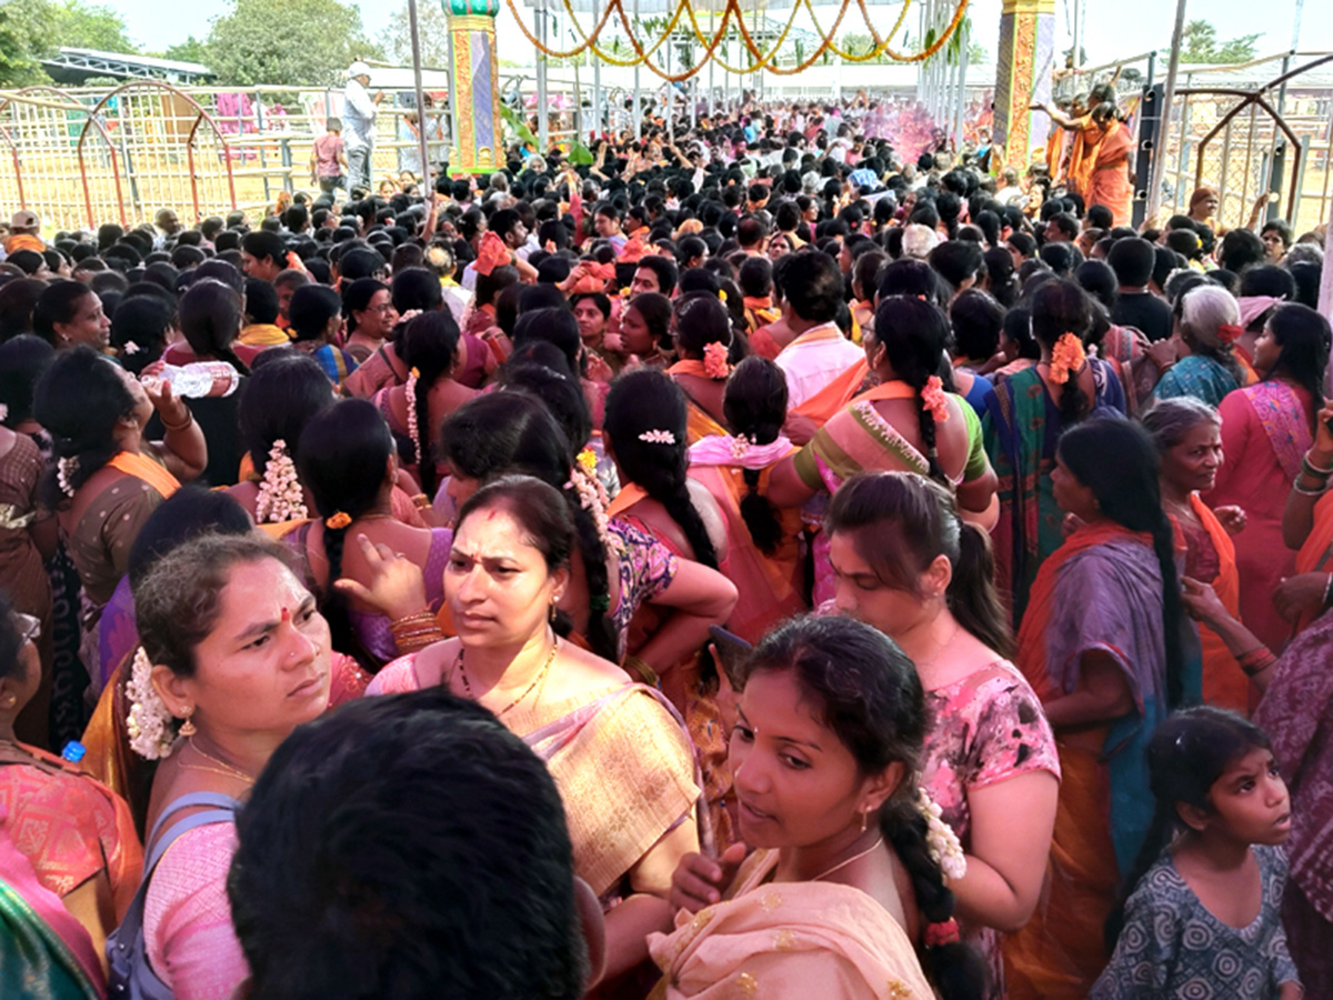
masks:
<svg viewBox="0 0 1333 1000"><path fill-rule="evenodd" d="M1024 676L1049 703L1078 685L1084 653L1109 655L1134 711L1077 741L1057 733L1062 781L1046 888L1004 945L1010 1000L1082 1000L1106 964L1102 925L1152 820L1144 748L1168 711L1165 649L1149 536L1085 524L1041 565L1018 632ZM1197 696L1197 679L1185 687Z"/></svg>

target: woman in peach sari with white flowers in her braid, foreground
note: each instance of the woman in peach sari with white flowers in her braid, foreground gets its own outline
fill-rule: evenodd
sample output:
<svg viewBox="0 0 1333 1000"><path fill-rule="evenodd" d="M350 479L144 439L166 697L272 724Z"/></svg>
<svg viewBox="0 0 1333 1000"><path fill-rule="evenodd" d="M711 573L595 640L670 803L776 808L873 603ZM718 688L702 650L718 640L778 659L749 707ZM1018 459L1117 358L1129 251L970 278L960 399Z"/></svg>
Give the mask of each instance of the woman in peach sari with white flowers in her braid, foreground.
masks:
<svg viewBox="0 0 1333 1000"><path fill-rule="evenodd" d="M965 864L914 776L926 709L902 651L850 619L797 619L746 661L738 715L730 764L758 849L677 869L676 929L649 939L655 1000L980 996L941 871Z"/></svg>

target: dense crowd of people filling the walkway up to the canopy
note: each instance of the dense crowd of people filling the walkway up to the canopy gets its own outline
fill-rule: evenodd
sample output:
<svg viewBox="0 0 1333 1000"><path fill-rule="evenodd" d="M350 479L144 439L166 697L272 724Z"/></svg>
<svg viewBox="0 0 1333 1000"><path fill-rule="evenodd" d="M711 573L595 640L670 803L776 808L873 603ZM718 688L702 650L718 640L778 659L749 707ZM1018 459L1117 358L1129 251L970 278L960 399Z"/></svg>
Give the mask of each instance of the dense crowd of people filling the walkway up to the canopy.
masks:
<svg viewBox="0 0 1333 1000"><path fill-rule="evenodd" d="M1324 233L1094 96L17 212L0 992L1333 995Z"/></svg>

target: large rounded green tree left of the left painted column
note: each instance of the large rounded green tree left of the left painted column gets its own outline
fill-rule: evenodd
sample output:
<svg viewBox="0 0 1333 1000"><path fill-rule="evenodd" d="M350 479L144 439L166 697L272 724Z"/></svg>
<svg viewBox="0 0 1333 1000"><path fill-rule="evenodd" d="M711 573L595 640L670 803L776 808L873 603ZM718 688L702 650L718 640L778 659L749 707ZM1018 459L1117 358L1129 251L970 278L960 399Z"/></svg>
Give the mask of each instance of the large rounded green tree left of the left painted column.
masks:
<svg viewBox="0 0 1333 1000"><path fill-rule="evenodd" d="M339 0L232 0L207 47L219 83L239 85L335 85L353 60L380 56L361 15Z"/></svg>

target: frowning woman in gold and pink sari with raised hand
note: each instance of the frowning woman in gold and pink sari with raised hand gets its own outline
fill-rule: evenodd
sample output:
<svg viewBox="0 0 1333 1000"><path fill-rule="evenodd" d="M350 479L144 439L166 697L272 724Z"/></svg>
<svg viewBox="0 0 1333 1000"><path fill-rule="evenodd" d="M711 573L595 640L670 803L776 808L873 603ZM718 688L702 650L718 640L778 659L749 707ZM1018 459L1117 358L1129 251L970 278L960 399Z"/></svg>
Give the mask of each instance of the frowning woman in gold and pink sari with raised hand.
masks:
<svg viewBox="0 0 1333 1000"><path fill-rule="evenodd" d="M672 872L700 845L700 788L670 704L552 627L572 584L575 531L555 487L531 476L481 487L460 511L445 573L459 637L389 664L367 693L444 685L547 761L575 872L608 911L611 979L647 959L647 932L669 920Z"/></svg>

